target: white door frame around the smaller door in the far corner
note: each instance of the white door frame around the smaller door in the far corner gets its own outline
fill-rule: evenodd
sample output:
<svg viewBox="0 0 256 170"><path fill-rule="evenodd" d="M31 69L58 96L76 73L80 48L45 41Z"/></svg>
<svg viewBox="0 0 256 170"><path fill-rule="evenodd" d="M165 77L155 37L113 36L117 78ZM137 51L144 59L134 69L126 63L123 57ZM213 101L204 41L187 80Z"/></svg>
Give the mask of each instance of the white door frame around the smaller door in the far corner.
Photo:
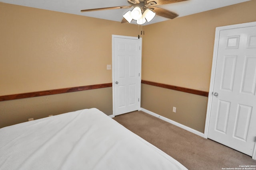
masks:
<svg viewBox="0 0 256 170"><path fill-rule="evenodd" d="M124 36L124 35L112 35L112 102L113 102L113 116L115 116L115 84L114 84L114 38L123 38L123 39L134 39L136 41L138 41L138 37L130 37L130 36ZM140 80L141 80L141 74L142 74L142 38L140 37L139 39L140 42ZM141 94L141 87L139 88L139 96ZM141 99L141 98L140 98ZM140 110L140 103L139 102L139 106L138 106L138 110Z"/></svg>

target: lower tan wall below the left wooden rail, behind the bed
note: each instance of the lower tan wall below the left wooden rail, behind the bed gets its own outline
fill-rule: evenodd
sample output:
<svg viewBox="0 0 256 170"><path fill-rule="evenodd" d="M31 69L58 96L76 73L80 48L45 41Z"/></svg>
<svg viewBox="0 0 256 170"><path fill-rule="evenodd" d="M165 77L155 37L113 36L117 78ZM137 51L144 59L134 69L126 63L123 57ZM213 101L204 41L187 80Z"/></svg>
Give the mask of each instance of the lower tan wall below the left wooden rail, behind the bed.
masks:
<svg viewBox="0 0 256 170"><path fill-rule="evenodd" d="M40 119L92 107L112 115L112 88L0 102L0 128L28 121L28 118Z"/></svg>

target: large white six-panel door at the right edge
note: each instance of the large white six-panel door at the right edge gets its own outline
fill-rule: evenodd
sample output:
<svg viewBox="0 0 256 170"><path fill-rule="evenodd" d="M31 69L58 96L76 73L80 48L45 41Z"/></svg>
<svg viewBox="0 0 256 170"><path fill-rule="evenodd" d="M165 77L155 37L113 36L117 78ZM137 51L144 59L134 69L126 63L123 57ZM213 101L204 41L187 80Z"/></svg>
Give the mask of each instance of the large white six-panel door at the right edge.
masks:
<svg viewBox="0 0 256 170"><path fill-rule="evenodd" d="M252 156L256 140L256 26L219 31L208 138Z"/></svg>

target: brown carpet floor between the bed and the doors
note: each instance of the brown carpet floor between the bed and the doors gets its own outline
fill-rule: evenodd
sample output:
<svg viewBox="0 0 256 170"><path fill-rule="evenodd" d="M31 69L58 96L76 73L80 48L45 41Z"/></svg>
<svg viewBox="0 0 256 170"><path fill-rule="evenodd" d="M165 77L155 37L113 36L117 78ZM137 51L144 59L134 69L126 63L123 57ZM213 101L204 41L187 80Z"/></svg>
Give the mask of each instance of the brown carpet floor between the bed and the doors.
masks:
<svg viewBox="0 0 256 170"><path fill-rule="evenodd" d="M113 119L178 160L188 170L224 170L256 165L256 160L246 154L142 111L118 115Z"/></svg>

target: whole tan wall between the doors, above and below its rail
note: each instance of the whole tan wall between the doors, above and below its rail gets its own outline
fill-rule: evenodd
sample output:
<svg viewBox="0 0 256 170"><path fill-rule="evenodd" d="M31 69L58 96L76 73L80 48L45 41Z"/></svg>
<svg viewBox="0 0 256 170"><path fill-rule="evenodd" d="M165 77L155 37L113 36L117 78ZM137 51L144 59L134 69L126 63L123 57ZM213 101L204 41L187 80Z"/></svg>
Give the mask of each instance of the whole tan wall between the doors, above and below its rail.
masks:
<svg viewBox="0 0 256 170"><path fill-rule="evenodd" d="M256 21L255 7L251 0L147 25L142 79L208 92L216 27ZM141 101L145 109L204 132L206 97L142 85Z"/></svg>

